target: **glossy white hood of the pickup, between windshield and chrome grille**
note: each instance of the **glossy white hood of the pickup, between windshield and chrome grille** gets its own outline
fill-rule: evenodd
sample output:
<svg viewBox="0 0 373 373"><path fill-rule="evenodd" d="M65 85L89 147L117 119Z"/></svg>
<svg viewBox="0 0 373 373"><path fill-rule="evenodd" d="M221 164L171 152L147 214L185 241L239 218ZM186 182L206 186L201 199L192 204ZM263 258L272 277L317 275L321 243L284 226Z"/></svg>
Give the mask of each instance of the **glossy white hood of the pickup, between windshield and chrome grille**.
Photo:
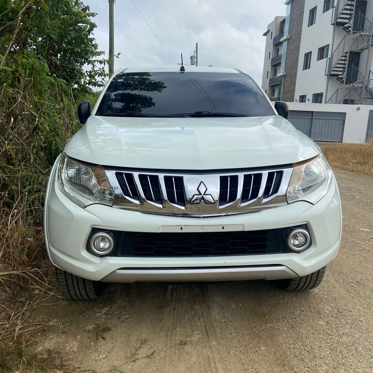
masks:
<svg viewBox="0 0 373 373"><path fill-rule="evenodd" d="M320 153L280 116L150 118L91 115L66 154L143 169L213 170L300 162Z"/></svg>

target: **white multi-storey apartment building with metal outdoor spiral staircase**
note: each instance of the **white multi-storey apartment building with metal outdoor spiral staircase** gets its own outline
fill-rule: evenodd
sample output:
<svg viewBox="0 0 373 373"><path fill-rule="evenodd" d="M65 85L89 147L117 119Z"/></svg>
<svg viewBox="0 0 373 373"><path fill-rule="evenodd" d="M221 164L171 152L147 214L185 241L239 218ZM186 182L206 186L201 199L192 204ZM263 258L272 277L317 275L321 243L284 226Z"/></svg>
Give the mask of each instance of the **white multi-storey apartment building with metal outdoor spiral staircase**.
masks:
<svg viewBox="0 0 373 373"><path fill-rule="evenodd" d="M285 18L276 17L264 33L262 88L270 99L373 104L373 1L287 0L285 4ZM268 66L271 48L272 56L276 53L270 32L273 39L280 36L282 44L277 70L273 57Z"/></svg>

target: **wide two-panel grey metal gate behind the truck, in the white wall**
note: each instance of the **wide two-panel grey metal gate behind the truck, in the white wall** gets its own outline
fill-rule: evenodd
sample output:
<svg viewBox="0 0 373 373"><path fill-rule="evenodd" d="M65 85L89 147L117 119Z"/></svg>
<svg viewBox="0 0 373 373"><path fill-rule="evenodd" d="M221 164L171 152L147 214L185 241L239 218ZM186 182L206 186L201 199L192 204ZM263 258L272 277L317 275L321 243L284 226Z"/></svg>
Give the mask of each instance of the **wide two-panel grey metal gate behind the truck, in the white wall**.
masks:
<svg viewBox="0 0 373 373"><path fill-rule="evenodd" d="M290 110L288 120L314 141L342 142L345 117L346 113L339 112Z"/></svg>

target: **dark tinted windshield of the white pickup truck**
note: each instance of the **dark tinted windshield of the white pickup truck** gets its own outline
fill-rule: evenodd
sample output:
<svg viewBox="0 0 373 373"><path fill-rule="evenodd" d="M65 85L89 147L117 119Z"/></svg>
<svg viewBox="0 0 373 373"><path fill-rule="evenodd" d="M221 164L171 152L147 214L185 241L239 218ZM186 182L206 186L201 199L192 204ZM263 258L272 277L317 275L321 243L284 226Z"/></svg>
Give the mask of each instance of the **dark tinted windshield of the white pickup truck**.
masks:
<svg viewBox="0 0 373 373"><path fill-rule="evenodd" d="M96 115L269 116L272 107L241 73L120 73L110 82ZM228 115L229 116L229 115Z"/></svg>

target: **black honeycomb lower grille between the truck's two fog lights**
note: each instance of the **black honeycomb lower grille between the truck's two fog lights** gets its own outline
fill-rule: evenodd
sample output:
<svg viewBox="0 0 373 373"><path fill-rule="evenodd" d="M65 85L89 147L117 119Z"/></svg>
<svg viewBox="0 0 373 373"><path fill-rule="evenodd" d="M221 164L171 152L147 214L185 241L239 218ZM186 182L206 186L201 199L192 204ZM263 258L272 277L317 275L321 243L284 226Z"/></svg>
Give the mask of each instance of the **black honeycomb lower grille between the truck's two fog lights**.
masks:
<svg viewBox="0 0 373 373"><path fill-rule="evenodd" d="M280 229L250 232L122 232L116 256L193 257L284 253Z"/></svg>

